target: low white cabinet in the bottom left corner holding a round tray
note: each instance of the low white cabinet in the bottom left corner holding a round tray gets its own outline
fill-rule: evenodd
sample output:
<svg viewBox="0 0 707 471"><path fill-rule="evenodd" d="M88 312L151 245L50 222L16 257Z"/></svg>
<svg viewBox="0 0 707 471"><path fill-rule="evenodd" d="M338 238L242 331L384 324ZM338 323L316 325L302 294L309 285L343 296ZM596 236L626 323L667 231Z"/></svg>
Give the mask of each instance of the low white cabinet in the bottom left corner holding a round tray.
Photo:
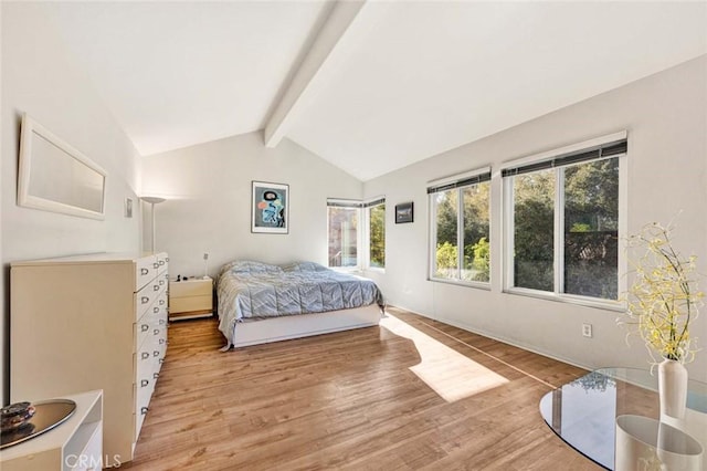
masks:
<svg viewBox="0 0 707 471"><path fill-rule="evenodd" d="M35 401L48 398L28 399ZM56 428L2 450L2 471L101 470L102 464L120 464L102 461L104 456L101 391L82 393L63 399L76 402L74 414Z"/></svg>

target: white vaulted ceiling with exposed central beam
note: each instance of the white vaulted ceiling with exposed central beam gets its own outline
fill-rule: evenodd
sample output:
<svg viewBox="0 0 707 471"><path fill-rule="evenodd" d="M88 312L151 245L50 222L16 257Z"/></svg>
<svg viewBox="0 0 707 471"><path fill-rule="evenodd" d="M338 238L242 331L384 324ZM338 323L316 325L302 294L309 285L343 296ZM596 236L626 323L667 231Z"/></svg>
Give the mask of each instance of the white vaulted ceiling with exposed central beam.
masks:
<svg viewBox="0 0 707 471"><path fill-rule="evenodd" d="M707 53L706 2L50 2L143 155L263 129L361 180Z"/></svg>

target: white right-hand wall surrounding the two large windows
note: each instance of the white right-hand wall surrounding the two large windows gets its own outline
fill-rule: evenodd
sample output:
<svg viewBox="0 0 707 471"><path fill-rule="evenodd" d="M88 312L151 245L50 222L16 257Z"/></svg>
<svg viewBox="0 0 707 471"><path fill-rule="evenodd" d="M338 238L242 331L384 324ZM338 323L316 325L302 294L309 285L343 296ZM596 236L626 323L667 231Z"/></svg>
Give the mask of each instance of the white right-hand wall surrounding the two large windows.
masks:
<svg viewBox="0 0 707 471"><path fill-rule="evenodd" d="M651 221L667 222L682 210L676 245L695 253L707 273L706 84L707 56L701 56L366 182L366 197L386 195L388 203L386 273L369 275L389 303L469 331L587 367L645 367L642 342L634 337L626 346L616 312L502 293L499 178L492 182L492 291L426 281L425 184L627 129L629 231L635 233ZM415 202L415 222L395 226L393 207L407 200ZM701 289L707 290L707 279ZM706 380L707 307L703 311L693 331L703 352L688 369ZM593 324L593 338L581 336L582 323Z"/></svg>

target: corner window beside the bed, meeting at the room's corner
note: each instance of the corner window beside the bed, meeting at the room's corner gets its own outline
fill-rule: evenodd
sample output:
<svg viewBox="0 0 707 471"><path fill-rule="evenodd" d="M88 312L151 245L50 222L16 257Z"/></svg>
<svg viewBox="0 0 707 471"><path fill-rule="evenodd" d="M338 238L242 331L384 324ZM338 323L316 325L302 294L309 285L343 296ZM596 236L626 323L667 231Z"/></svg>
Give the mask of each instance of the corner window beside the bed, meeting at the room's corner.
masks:
<svg viewBox="0 0 707 471"><path fill-rule="evenodd" d="M327 200L329 266L386 266L386 199ZM365 221L365 227L362 227Z"/></svg>

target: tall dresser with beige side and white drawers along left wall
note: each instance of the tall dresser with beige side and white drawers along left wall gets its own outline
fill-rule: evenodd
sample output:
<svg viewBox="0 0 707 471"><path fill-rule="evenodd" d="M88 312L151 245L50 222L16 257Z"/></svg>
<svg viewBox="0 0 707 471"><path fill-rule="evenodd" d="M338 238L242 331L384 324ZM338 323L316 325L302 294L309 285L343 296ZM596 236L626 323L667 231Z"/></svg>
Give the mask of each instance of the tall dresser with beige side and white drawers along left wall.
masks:
<svg viewBox="0 0 707 471"><path fill-rule="evenodd" d="M12 263L10 400L103 389L103 451L130 461L167 350L168 258Z"/></svg>

